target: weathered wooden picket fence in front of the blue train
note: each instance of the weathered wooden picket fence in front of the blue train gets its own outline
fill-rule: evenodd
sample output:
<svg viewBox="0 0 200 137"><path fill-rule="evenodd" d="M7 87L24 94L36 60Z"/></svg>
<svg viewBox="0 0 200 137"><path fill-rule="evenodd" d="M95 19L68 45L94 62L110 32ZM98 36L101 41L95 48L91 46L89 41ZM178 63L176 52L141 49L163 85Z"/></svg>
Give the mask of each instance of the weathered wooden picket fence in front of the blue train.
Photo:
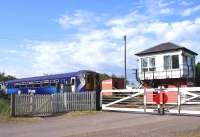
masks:
<svg viewBox="0 0 200 137"><path fill-rule="evenodd" d="M61 112L96 110L96 92L52 95L12 95L12 116L50 116Z"/></svg>

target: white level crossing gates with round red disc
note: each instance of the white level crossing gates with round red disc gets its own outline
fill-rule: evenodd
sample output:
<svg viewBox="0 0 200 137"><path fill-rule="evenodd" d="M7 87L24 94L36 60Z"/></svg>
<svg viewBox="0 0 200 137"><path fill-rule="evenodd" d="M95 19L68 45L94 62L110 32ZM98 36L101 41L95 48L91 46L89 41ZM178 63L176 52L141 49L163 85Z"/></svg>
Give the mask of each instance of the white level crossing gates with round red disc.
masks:
<svg viewBox="0 0 200 137"><path fill-rule="evenodd" d="M102 90L102 110L200 115L200 87Z"/></svg>

